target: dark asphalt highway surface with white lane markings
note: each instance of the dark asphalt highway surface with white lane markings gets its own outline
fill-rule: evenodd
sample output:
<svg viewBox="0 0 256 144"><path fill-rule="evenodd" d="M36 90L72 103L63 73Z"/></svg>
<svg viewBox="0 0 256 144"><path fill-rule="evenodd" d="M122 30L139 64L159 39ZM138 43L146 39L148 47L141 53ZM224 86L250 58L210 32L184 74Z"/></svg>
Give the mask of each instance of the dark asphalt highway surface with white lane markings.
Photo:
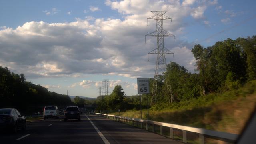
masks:
<svg viewBox="0 0 256 144"><path fill-rule="evenodd" d="M181 142L96 115L81 121L47 119L27 122L25 131L0 134L1 144L181 144Z"/></svg>

